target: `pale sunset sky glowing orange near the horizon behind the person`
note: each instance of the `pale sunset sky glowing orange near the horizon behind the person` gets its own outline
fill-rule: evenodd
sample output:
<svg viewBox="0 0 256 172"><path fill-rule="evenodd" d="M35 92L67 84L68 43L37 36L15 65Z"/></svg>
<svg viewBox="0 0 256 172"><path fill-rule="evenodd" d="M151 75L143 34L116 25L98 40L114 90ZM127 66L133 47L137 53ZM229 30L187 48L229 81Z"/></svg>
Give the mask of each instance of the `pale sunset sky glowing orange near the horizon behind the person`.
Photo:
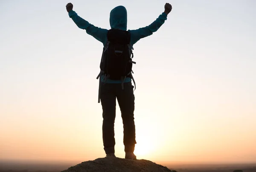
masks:
<svg viewBox="0 0 256 172"><path fill-rule="evenodd" d="M66 4L110 29L166 22L134 45L135 154L154 162L256 162L256 1L0 1L0 160L105 157L98 103L102 43L76 26ZM124 158L122 118L116 156Z"/></svg>

